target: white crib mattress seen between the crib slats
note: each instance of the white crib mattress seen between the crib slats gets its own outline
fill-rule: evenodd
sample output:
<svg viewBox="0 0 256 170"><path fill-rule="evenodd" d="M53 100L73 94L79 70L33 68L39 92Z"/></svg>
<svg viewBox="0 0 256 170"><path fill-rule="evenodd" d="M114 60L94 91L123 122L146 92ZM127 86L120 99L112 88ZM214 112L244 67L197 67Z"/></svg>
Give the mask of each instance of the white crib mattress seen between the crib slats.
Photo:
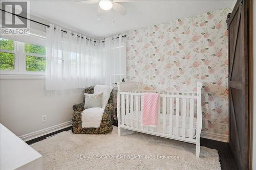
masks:
<svg viewBox="0 0 256 170"><path fill-rule="evenodd" d="M139 111L138 117L139 117L139 125L141 126L141 112L140 111ZM176 115L173 115L172 125L169 125L169 115L168 114L166 114L165 119L166 119L166 123L165 123L166 134L170 134L169 126L172 126L172 131L173 131L172 135L176 135ZM133 120L133 125L135 125L136 112L131 112L124 116L124 125L131 126L132 120ZM146 127L141 127L141 128L145 129ZM157 132L157 128L152 128L152 127L148 127L148 128L150 128L151 131ZM196 135L196 129L197 129L197 118L194 117L193 118L193 136ZM179 115L179 130L178 131L179 131L179 136L182 136L182 116L181 115ZM163 114L162 113L160 113L160 133L163 133ZM185 136L189 137L189 116L186 116Z"/></svg>

